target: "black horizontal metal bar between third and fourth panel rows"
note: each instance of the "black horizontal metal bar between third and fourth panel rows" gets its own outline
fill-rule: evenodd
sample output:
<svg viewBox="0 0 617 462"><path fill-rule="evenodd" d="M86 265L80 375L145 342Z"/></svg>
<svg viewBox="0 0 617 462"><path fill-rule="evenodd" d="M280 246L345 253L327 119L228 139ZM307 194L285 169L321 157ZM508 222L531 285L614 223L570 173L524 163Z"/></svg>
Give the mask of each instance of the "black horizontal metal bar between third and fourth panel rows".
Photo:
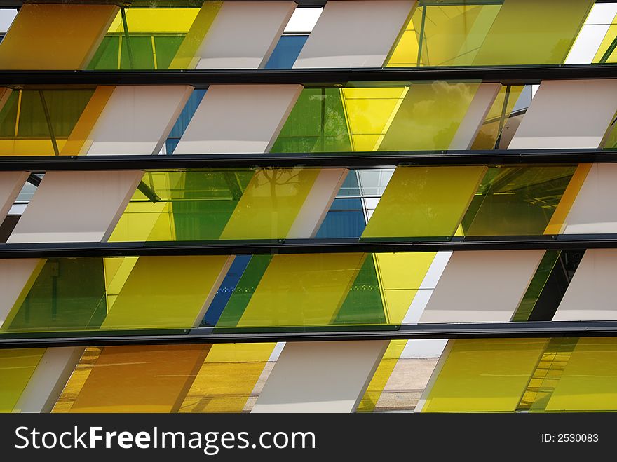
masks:
<svg viewBox="0 0 617 462"><path fill-rule="evenodd" d="M357 239L164 241L148 243L0 244L0 259L144 257L178 255L315 254L350 252L439 252L442 250L583 250L617 248L617 234L443 238L400 242ZM449 239L449 240L446 240ZM463 240L464 239L464 240Z"/></svg>

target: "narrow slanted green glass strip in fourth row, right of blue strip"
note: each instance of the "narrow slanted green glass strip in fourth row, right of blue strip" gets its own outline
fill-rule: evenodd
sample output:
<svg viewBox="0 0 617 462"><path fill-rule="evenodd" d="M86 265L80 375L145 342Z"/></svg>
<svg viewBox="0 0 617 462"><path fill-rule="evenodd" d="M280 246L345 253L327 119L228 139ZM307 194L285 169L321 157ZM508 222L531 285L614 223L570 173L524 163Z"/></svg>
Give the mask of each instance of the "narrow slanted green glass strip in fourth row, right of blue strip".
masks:
<svg viewBox="0 0 617 462"><path fill-rule="evenodd" d="M217 327L236 327L238 325L271 260L272 255L253 255L251 257L217 322Z"/></svg>

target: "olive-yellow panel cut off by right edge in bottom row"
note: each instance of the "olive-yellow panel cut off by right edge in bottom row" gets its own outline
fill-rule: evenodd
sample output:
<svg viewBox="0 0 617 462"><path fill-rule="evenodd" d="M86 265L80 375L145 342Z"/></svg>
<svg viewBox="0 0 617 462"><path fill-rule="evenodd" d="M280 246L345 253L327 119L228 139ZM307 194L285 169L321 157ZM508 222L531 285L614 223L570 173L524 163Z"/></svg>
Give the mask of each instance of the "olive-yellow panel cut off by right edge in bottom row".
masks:
<svg viewBox="0 0 617 462"><path fill-rule="evenodd" d="M617 409L617 339L581 338L546 406L547 411Z"/></svg>

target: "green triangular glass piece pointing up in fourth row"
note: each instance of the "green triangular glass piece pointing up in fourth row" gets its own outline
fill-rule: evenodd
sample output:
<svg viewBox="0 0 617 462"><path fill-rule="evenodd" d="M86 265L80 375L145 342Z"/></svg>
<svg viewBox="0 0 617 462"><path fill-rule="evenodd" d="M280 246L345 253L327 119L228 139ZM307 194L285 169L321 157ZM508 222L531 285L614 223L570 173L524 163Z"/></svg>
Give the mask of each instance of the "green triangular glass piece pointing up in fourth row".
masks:
<svg viewBox="0 0 617 462"><path fill-rule="evenodd" d="M386 315L372 255L368 255L333 324L385 324Z"/></svg>

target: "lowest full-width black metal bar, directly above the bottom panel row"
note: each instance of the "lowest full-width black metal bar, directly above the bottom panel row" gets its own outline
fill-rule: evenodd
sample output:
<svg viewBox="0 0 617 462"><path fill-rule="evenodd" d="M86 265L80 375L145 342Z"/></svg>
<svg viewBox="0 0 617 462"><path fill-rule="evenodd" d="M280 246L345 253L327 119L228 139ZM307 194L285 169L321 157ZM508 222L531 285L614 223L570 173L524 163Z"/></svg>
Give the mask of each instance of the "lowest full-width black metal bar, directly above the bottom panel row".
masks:
<svg viewBox="0 0 617 462"><path fill-rule="evenodd" d="M350 341L407 339L478 339L528 337L609 337L617 336L617 321L542 321L542 322L476 322L464 324L402 325L399 329L313 330L312 332L243 332L217 333L213 327L195 327L184 333L151 333L147 329L135 334L72 331L21 334L0 337L0 348L40 348L53 346L111 346L156 344L228 344L274 341ZM248 332L247 332L248 331ZM29 337L24 337L29 335ZM21 338L20 338L21 337Z"/></svg>

